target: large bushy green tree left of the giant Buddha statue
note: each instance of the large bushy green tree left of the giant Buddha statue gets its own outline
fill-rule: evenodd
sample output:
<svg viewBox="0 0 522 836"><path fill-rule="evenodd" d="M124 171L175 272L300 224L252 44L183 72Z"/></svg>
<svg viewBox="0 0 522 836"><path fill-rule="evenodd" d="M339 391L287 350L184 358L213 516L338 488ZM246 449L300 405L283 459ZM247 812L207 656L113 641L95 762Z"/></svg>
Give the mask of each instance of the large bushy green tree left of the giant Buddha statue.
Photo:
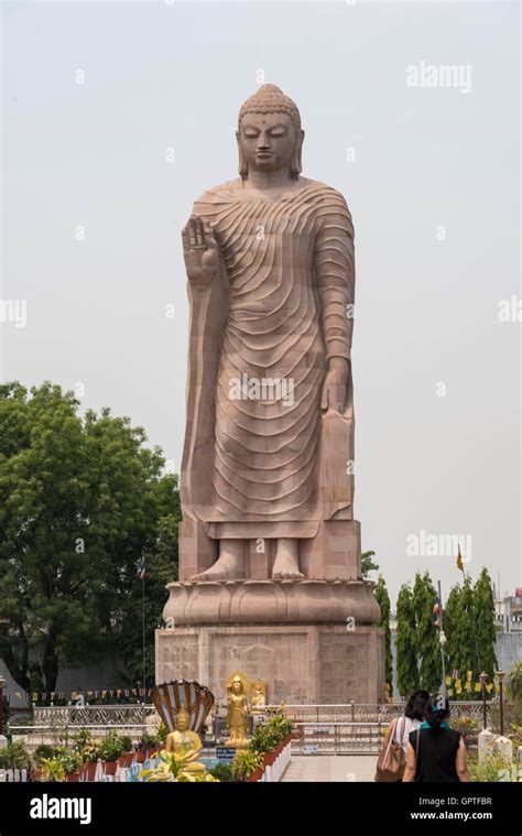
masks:
<svg viewBox="0 0 522 836"><path fill-rule="evenodd" d="M78 408L50 382L0 386L0 656L25 691L54 691L62 664L97 661L137 617L140 554L178 513L144 431Z"/></svg>

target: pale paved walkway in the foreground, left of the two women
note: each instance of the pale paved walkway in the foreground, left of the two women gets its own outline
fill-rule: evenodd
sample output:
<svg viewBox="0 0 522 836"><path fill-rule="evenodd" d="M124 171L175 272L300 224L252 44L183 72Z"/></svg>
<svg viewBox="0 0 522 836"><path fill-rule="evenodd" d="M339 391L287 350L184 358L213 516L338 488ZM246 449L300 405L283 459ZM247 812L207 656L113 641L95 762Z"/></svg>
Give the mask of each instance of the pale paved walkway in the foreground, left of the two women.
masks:
<svg viewBox="0 0 522 836"><path fill-rule="evenodd" d="M377 754L293 754L282 781L373 781Z"/></svg>

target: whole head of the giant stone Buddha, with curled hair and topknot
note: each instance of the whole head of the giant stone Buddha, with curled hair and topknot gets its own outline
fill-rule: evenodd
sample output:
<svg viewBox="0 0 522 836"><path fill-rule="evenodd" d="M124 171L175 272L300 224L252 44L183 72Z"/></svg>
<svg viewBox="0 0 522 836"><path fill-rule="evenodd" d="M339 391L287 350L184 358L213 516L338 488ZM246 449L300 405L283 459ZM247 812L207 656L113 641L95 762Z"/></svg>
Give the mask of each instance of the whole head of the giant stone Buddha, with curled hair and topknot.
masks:
<svg viewBox="0 0 522 836"><path fill-rule="evenodd" d="M239 174L286 170L297 180L302 171L304 131L297 106L274 84L264 84L242 105L236 133Z"/></svg>

